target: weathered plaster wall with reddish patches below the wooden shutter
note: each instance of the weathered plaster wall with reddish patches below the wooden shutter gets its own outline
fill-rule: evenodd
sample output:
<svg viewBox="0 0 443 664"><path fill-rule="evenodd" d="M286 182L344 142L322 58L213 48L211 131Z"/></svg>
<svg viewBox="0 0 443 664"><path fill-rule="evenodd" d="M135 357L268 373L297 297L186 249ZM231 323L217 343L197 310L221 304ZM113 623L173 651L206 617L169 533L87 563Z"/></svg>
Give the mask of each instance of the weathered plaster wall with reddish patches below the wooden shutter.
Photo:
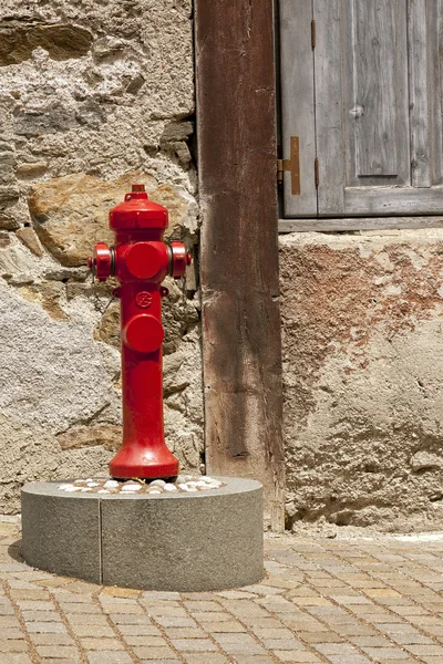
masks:
<svg viewBox="0 0 443 664"><path fill-rule="evenodd" d="M443 231L280 237L287 526L443 527Z"/></svg>

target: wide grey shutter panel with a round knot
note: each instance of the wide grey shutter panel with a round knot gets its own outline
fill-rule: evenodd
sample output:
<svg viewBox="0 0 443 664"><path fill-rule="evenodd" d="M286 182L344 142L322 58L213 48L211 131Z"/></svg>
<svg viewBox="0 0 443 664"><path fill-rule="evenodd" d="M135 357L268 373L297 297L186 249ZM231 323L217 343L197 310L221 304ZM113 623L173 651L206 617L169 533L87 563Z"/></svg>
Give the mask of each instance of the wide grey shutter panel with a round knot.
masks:
<svg viewBox="0 0 443 664"><path fill-rule="evenodd" d="M405 1L344 2L348 186L410 183Z"/></svg>

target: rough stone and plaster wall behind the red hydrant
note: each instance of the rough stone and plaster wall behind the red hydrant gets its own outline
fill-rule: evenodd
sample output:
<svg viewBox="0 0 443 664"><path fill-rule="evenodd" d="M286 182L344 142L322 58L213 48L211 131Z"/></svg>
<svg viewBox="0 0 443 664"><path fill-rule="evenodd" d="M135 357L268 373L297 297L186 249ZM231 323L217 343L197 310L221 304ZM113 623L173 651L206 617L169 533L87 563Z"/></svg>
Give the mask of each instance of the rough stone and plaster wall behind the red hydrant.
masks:
<svg viewBox="0 0 443 664"><path fill-rule="evenodd" d="M132 181L197 242L190 0L0 6L0 510L21 484L105 473L120 440L119 308L85 260ZM165 305L168 443L203 448L199 311ZM99 311L102 310L102 311Z"/></svg>

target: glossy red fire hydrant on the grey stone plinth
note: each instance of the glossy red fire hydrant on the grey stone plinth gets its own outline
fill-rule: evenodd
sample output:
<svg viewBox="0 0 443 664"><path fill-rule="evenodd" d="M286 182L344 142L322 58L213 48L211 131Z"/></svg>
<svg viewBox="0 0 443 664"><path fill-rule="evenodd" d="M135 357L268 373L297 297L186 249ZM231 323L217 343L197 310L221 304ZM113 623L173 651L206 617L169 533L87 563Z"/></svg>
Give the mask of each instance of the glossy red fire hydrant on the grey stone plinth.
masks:
<svg viewBox="0 0 443 664"><path fill-rule="evenodd" d="M179 279L190 263L182 242L167 246L167 210L133 185L110 212L115 246L97 242L89 266L99 281L115 276L121 301L123 445L110 463L112 477L168 478L178 460L165 444L163 426L162 287L167 274Z"/></svg>

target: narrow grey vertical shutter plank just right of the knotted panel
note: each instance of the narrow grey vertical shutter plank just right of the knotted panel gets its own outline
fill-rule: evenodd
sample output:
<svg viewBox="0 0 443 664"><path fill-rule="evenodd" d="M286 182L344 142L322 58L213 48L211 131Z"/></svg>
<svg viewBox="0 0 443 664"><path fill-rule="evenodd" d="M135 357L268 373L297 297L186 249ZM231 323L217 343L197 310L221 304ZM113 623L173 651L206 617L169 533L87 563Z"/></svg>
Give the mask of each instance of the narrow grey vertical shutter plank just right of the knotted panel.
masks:
<svg viewBox="0 0 443 664"><path fill-rule="evenodd" d="M435 2L435 0L433 0ZM413 187L431 187L430 158L430 86L427 61L426 0L410 0L408 4L411 176Z"/></svg>

